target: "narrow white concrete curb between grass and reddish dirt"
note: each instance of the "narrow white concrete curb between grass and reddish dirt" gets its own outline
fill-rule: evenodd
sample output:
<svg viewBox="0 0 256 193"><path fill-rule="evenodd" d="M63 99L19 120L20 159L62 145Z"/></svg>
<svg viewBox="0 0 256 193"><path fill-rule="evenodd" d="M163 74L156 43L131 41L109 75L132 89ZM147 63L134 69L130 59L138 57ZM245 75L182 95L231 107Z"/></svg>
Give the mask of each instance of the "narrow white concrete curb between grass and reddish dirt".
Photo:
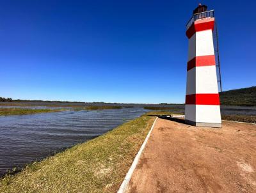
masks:
<svg viewBox="0 0 256 193"><path fill-rule="evenodd" d="M157 118L156 118L156 120L157 120ZM145 146L146 146L146 144L147 144L148 138L149 138L149 136L150 136L150 134L151 134L151 132L152 132L154 126L155 126L156 120L154 121L152 127L150 128L150 130L149 130L149 132L148 132L148 134L147 134L147 137L146 137L145 141L144 141L143 144L141 145L141 148L140 148L140 150L138 151L136 157L134 158L134 160L133 160L133 162L132 162L132 166L130 167L129 171L127 172L127 174L126 174L126 176L125 176L125 178L124 178L124 181L122 182L122 184L121 184L119 190L117 191L117 193L124 193L124 192L125 192L125 190L126 190L126 188L127 188L127 185L128 185L128 183L129 183L129 181L131 180L132 173L134 172L134 169L135 169L135 167L137 166L137 164L138 164L138 162L139 162L141 153L142 153L142 151L144 150L144 148L145 148Z"/></svg>

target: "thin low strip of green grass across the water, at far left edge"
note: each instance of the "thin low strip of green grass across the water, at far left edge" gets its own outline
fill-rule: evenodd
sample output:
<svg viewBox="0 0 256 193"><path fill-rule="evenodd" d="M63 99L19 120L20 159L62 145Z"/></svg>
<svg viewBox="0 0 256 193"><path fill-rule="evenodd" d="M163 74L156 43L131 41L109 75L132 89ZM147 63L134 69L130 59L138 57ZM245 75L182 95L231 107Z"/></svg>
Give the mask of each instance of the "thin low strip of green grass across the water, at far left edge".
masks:
<svg viewBox="0 0 256 193"><path fill-rule="evenodd" d="M6 115L21 115L21 114L36 114L43 112L60 112L67 109L22 109L22 108L0 108L0 116Z"/></svg>

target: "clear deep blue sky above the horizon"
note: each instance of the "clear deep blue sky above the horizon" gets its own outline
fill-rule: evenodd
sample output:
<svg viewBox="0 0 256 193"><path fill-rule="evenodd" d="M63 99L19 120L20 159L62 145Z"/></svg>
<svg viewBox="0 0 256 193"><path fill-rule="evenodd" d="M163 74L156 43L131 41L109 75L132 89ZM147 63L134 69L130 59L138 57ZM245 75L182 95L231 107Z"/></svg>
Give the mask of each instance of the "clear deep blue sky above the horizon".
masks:
<svg viewBox="0 0 256 193"><path fill-rule="evenodd" d="M0 1L0 96L184 103L185 24L215 10L223 90L256 85L256 1ZM249 10L249 11L248 11Z"/></svg>

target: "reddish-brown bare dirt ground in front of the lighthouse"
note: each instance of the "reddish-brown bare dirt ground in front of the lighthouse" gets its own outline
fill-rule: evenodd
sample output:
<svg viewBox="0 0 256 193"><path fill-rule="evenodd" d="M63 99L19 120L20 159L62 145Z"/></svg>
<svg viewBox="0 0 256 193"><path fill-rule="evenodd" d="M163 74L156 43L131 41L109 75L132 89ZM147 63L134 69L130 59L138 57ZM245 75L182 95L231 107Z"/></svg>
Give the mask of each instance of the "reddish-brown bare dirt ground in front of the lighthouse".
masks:
<svg viewBox="0 0 256 193"><path fill-rule="evenodd" d="M158 119L127 192L256 192L256 125Z"/></svg>

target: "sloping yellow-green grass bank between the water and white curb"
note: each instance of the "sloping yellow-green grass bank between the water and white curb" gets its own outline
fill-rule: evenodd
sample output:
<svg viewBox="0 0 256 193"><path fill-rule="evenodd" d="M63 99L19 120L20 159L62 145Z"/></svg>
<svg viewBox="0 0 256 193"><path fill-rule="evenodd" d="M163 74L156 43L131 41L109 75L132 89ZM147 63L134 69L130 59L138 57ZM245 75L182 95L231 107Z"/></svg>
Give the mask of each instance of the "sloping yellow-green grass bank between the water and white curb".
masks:
<svg viewBox="0 0 256 193"><path fill-rule="evenodd" d="M150 115L6 175L0 192L116 192L155 120Z"/></svg>

